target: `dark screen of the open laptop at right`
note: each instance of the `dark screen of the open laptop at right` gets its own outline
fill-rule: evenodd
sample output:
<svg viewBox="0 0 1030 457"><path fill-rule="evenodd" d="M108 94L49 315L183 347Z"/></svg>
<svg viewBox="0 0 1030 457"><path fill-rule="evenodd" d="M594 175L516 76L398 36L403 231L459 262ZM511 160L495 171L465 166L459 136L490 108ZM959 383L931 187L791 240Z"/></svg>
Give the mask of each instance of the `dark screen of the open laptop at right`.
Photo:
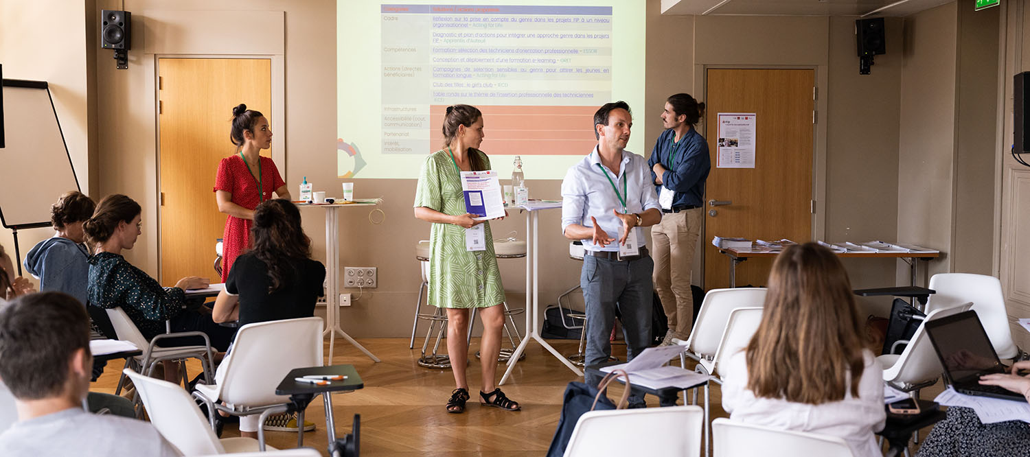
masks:
<svg viewBox="0 0 1030 457"><path fill-rule="evenodd" d="M926 331L953 383L975 383L981 375L1005 370L973 311L930 321Z"/></svg>

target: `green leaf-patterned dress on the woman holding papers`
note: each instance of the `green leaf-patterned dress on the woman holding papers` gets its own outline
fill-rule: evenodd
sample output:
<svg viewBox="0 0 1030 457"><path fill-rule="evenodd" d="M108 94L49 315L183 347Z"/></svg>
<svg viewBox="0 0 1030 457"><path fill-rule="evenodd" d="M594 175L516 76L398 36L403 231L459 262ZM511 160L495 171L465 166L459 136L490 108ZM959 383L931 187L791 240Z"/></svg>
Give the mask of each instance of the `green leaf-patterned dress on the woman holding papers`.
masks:
<svg viewBox="0 0 1030 457"><path fill-rule="evenodd" d="M477 153L490 169L490 161ZM418 177L415 207L426 207L444 214L466 213L460 175L447 150L441 149L425 160ZM483 222L486 250L467 251L465 227L452 223L434 223L430 232L430 305L438 308L488 308L505 301L501 270L493 254L490 222Z"/></svg>

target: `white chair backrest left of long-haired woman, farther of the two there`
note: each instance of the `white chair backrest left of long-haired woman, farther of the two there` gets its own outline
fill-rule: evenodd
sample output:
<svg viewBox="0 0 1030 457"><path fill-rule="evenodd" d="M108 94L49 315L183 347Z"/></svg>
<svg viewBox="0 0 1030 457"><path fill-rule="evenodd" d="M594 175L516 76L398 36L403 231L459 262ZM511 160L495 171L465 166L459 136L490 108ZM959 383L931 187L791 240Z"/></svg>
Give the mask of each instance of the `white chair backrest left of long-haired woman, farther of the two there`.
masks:
<svg viewBox="0 0 1030 457"><path fill-rule="evenodd" d="M737 308L755 308L765 305L764 287L737 287L712 289L705 294L697 321L687 340L687 350L702 357L712 357L719 349L719 341L729 313Z"/></svg>

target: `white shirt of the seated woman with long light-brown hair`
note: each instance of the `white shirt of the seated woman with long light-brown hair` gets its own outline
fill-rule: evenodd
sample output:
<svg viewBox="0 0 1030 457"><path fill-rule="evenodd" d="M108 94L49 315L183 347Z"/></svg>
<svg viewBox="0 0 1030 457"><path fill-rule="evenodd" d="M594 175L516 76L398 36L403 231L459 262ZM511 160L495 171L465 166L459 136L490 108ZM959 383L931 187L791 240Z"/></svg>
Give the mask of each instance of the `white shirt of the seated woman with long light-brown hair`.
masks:
<svg viewBox="0 0 1030 457"><path fill-rule="evenodd" d="M748 389L748 361L744 351L733 354L723 374L722 409L729 418L768 427L839 436L859 457L881 456L874 431L884 428L884 371L869 351L862 351L865 367L858 382L858 398L851 395L850 377L844 399L822 405L756 398Z"/></svg>

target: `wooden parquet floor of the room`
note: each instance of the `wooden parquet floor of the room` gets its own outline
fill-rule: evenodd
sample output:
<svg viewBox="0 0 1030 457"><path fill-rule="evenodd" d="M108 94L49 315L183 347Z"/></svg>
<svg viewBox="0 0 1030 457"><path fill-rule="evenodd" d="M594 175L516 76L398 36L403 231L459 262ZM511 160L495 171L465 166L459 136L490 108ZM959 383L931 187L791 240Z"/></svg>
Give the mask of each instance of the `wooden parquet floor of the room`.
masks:
<svg viewBox="0 0 1030 457"><path fill-rule="evenodd" d="M481 371L479 360L471 356L468 377L473 398L464 414L448 414L444 403L454 388L454 378L450 370L424 368L416 363L420 339L415 341L415 349L405 346L408 339L364 339L360 343L382 361L375 363L346 342L337 342L333 362L353 364L365 388L334 395L333 409L338 436L349 432L353 416L360 415L360 449L365 456L542 456L557 426L565 385L582 380L540 345L529 343L525 359L518 362L512 378L501 386L509 397L522 405L522 411L480 407L475 392L480 387ZM577 341L550 343L563 354L578 349ZM477 350L478 341L474 339L470 355ZM625 359L624 345L614 344L612 351ZM200 370L199 363L187 366L191 374ZM499 365L497 381L505 367ZM93 390L113 393L118 368L117 361L108 363ZM925 390L923 397L933 398L940 390L938 386ZM711 390L712 417L726 417L720 407L719 388ZM611 397L620 394L621 388L610 389ZM648 395L647 401L650 407L657 407L656 397ZM322 402L312 402L305 419L314 422L316 428L305 433L304 445L325 454ZM222 437L238 435L236 424L226 425ZM296 433L267 432L266 436L268 444L277 449L297 446Z"/></svg>

